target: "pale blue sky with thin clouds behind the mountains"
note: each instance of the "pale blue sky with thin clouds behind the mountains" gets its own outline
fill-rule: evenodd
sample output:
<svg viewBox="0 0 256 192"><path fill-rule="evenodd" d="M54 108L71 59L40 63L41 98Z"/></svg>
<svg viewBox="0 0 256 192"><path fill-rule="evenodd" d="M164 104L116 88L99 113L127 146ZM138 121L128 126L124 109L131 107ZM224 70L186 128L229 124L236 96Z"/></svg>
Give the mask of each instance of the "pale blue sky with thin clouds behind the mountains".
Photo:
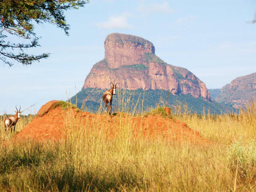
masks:
<svg viewBox="0 0 256 192"><path fill-rule="evenodd" d="M110 33L140 36L153 42L164 62L181 66L206 83L222 88L256 72L255 0L92 0L66 12L70 36L50 24L36 26L50 57L30 66L0 63L0 114L15 105L37 113L50 100L79 92L92 66L104 58Z"/></svg>

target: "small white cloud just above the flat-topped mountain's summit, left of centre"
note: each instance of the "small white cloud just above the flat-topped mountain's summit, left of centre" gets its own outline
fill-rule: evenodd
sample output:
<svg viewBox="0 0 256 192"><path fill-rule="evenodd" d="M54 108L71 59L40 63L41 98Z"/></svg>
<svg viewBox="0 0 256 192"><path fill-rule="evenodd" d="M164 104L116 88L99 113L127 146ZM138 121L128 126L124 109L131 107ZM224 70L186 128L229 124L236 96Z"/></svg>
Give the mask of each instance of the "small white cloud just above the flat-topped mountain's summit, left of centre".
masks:
<svg viewBox="0 0 256 192"><path fill-rule="evenodd" d="M130 30L132 29L132 25L129 24L128 19L130 18L130 14L124 13L121 15L115 15L108 17L105 22L96 23L98 28L104 29L118 29L118 30Z"/></svg>

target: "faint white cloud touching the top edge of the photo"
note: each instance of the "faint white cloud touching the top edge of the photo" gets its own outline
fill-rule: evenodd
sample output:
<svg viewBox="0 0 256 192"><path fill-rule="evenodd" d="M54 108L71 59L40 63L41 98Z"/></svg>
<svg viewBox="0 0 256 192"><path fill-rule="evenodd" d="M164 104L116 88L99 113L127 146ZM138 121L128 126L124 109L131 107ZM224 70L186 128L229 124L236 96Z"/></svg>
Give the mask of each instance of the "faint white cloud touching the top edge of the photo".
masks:
<svg viewBox="0 0 256 192"><path fill-rule="evenodd" d="M163 3L151 3L146 4L145 1L140 4L140 7L138 7L138 11L145 13L145 14L151 14L151 13L157 13L157 14L172 14L174 13L174 9L170 8L167 1Z"/></svg>

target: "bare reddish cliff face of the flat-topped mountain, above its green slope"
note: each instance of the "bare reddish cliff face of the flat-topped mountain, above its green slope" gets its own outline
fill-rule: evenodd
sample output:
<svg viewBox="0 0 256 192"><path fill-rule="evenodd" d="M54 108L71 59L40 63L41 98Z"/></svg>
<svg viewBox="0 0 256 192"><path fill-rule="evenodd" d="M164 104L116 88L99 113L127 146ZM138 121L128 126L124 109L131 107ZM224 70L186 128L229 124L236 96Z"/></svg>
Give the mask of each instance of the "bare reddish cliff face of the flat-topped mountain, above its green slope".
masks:
<svg viewBox="0 0 256 192"><path fill-rule="evenodd" d="M111 81L122 89L164 89L211 100L206 85L193 73L168 65L154 54L150 41L128 34L106 37L105 58L94 65L83 88L108 89Z"/></svg>

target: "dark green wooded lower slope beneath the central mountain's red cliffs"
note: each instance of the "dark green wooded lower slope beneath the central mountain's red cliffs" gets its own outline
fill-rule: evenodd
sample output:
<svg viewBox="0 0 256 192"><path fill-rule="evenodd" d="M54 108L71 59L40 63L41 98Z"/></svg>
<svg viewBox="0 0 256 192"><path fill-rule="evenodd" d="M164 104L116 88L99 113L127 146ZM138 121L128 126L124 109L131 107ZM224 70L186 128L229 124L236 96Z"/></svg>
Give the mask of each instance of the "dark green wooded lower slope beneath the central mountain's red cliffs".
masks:
<svg viewBox="0 0 256 192"><path fill-rule="evenodd" d="M105 104L102 100L103 92L105 92L105 89L82 89L71 98L71 102L92 113L100 109L105 110ZM199 114L207 113L207 110L212 114L232 112L232 108L215 101L207 101L203 97L195 98L190 94L172 95L168 90L118 89L117 94L113 97L113 112L141 113L156 106L169 106L182 112L187 108L191 113Z"/></svg>

